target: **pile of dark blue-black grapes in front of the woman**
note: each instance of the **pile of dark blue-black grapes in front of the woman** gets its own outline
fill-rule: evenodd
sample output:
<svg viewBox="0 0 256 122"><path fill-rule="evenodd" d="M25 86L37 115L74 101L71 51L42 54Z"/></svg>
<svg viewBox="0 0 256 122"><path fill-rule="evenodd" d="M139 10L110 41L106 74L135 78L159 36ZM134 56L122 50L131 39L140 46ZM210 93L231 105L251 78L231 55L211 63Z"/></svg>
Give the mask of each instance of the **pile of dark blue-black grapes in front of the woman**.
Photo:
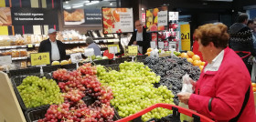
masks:
<svg viewBox="0 0 256 122"><path fill-rule="evenodd" d="M187 62L187 58L177 56L146 57L144 64L151 68L156 75L161 76L159 84L167 86L169 90L172 90L176 100L176 94L182 88L182 76L187 74L195 81L200 76L199 67Z"/></svg>

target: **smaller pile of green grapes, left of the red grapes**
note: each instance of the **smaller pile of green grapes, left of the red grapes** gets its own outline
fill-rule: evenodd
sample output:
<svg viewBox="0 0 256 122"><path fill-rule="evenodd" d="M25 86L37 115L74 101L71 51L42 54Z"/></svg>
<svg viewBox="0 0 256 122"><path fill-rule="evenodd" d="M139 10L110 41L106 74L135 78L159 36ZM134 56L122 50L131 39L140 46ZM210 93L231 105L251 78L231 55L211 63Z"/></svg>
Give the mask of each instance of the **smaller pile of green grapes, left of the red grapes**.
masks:
<svg viewBox="0 0 256 122"><path fill-rule="evenodd" d="M64 101L59 86L46 77L27 76L17 90L27 108L61 104Z"/></svg>

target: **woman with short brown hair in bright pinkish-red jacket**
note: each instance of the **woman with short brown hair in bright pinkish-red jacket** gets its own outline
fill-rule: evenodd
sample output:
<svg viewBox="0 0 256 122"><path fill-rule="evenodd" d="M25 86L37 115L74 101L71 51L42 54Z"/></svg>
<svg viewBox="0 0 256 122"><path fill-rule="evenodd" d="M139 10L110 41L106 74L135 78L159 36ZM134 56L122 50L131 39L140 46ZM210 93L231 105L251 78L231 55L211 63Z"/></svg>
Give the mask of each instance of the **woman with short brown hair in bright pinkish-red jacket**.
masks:
<svg viewBox="0 0 256 122"><path fill-rule="evenodd" d="M182 103L215 121L256 122L250 74L228 47L228 27L223 24L199 26L195 31L198 50L208 63L195 86L195 93L179 93Z"/></svg>

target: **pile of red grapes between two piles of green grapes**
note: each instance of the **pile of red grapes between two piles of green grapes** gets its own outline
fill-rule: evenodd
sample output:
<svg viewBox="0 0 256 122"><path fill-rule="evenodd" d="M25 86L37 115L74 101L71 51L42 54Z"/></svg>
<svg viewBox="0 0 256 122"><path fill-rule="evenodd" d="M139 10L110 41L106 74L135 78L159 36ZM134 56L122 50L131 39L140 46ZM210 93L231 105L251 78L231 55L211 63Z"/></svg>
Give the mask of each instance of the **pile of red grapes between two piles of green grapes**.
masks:
<svg viewBox="0 0 256 122"><path fill-rule="evenodd" d="M96 66L84 64L77 70L59 69L53 72L53 78L59 81L64 93L62 105L48 108L43 121L80 121L80 122L112 122L114 109L110 106L112 89L101 86L97 80ZM87 105L82 98L92 97L95 101Z"/></svg>

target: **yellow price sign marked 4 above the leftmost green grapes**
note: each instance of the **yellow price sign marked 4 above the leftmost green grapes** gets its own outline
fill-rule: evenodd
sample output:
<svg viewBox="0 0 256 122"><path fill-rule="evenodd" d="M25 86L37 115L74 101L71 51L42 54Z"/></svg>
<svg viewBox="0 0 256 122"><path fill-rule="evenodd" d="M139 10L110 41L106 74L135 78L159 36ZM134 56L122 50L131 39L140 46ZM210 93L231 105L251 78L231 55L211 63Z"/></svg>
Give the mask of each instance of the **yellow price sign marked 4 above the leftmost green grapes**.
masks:
<svg viewBox="0 0 256 122"><path fill-rule="evenodd" d="M49 53L33 53L30 54L31 66L40 66L50 64Z"/></svg>

